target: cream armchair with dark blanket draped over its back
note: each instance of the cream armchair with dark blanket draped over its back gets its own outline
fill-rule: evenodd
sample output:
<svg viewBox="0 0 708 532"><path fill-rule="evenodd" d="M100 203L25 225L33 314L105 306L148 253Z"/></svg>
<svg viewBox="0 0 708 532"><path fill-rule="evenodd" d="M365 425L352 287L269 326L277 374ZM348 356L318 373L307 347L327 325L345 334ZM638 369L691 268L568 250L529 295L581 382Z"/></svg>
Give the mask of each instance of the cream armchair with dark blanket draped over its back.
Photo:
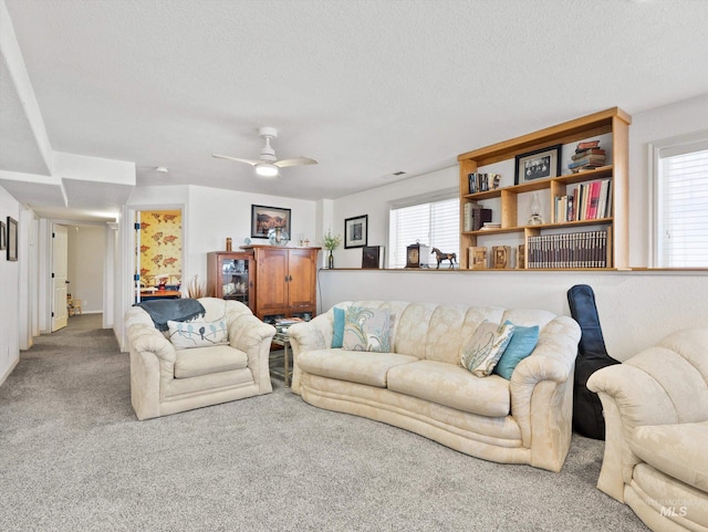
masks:
<svg viewBox="0 0 708 532"><path fill-rule="evenodd" d="M139 306L125 313L131 352L131 401L149 419L272 392L270 345L275 328L237 301L198 300L204 322L226 321L228 344L175 348Z"/></svg>

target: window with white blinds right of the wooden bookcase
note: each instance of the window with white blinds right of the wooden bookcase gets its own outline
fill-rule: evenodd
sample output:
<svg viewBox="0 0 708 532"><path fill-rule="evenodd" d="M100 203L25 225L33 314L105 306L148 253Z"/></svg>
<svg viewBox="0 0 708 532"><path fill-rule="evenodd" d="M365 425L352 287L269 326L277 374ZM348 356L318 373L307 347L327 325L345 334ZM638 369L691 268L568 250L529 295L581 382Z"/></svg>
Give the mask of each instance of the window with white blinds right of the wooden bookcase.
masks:
<svg viewBox="0 0 708 532"><path fill-rule="evenodd" d="M653 146L654 264L708 268L708 132Z"/></svg>

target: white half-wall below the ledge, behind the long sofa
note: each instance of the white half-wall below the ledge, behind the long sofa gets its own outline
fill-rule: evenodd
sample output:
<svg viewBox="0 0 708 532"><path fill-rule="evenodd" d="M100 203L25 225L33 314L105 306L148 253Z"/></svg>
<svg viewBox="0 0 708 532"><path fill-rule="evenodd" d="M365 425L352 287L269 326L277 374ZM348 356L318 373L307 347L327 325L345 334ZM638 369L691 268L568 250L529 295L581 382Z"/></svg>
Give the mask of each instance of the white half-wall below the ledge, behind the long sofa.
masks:
<svg viewBox="0 0 708 532"><path fill-rule="evenodd" d="M684 327L708 326L708 274L686 272L493 272L321 270L320 304L399 300L570 315L568 290L590 284L607 352L624 361Z"/></svg>

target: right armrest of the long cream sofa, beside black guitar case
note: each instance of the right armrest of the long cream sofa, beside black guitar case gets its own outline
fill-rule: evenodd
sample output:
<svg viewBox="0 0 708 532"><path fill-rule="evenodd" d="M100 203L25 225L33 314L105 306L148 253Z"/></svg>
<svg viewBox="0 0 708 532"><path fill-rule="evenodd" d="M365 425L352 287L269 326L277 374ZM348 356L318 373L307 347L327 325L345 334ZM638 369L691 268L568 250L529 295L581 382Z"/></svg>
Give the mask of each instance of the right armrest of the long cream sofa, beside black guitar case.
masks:
<svg viewBox="0 0 708 532"><path fill-rule="evenodd" d="M511 415L532 465L560 471L572 437L573 368L581 328L556 316L541 331L533 353L511 375Z"/></svg>

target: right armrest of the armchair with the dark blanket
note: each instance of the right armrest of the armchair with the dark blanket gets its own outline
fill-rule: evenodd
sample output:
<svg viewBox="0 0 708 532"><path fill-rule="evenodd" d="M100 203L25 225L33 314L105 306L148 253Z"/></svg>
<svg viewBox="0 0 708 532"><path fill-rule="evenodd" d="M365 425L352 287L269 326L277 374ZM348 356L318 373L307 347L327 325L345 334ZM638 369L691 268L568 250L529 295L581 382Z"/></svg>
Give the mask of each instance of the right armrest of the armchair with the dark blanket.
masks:
<svg viewBox="0 0 708 532"><path fill-rule="evenodd" d="M229 344L248 355L248 367L262 393L272 390L270 382L270 346L275 327L253 314L233 316L229 323Z"/></svg>

